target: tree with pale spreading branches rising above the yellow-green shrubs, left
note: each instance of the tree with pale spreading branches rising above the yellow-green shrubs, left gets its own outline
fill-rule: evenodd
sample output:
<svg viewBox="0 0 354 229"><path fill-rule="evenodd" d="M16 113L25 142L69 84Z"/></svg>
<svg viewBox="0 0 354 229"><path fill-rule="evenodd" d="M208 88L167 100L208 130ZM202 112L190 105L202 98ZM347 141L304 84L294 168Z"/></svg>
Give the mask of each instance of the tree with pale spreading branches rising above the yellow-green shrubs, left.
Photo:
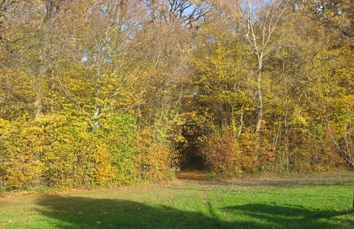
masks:
<svg viewBox="0 0 354 229"><path fill-rule="evenodd" d="M95 129L105 113L113 108L124 110L119 103L129 99L132 85L145 69L139 50L134 49L142 12L135 1L86 4L86 12L76 18L84 25L71 38L77 55L64 66L58 81L65 96Z"/></svg>

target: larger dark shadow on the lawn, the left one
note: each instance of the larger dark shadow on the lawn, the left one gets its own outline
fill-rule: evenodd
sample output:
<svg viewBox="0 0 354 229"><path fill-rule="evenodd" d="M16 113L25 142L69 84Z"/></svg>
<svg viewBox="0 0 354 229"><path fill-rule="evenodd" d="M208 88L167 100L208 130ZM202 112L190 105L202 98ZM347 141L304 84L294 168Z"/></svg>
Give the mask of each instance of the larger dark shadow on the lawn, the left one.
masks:
<svg viewBox="0 0 354 229"><path fill-rule="evenodd" d="M60 229L221 227L217 220L203 213L122 199L50 195L38 198L36 203L41 206L36 211L53 219L55 227Z"/></svg>

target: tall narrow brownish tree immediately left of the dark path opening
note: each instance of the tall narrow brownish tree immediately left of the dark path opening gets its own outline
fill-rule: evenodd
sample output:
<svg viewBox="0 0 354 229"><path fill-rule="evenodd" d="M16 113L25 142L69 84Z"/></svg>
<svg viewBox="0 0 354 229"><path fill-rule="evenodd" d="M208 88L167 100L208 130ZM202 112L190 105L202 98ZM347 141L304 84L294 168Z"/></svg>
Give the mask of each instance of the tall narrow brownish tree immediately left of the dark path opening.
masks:
<svg viewBox="0 0 354 229"><path fill-rule="evenodd" d="M149 174L147 177L157 176L173 161L178 161L176 149L183 141L180 135L182 104L192 91L193 39L190 27L179 17L160 19L145 23L138 36L139 49L145 53L145 62L149 63L137 83L141 102L135 110L139 139L150 139L148 145L139 144L141 161L145 161L140 169ZM154 159L154 163L144 158Z"/></svg>

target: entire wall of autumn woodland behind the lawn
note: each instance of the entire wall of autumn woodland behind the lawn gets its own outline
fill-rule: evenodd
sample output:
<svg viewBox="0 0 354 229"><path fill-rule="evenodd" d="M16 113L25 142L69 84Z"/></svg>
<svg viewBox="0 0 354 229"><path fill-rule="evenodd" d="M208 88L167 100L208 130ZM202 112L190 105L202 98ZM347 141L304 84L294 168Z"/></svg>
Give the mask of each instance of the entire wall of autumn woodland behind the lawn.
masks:
<svg viewBox="0 0 354 229"><path fill-rule="evenodd" d="M354 166L351 0L0 0L0 188Z"/></svg>

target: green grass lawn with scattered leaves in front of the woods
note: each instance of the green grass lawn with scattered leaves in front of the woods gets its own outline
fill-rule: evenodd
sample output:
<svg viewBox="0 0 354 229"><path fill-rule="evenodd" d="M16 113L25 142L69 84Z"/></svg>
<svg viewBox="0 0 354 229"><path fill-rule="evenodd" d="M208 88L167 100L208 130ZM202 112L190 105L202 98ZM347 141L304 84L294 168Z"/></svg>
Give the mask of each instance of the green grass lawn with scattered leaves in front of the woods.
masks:
<svg viewBox="0 0 354 229"><path fill-rule="evenodd" d="M10 196L0 198L0 229L354 229L354 173L344 173L301 184L175 180Z"/></svg>

